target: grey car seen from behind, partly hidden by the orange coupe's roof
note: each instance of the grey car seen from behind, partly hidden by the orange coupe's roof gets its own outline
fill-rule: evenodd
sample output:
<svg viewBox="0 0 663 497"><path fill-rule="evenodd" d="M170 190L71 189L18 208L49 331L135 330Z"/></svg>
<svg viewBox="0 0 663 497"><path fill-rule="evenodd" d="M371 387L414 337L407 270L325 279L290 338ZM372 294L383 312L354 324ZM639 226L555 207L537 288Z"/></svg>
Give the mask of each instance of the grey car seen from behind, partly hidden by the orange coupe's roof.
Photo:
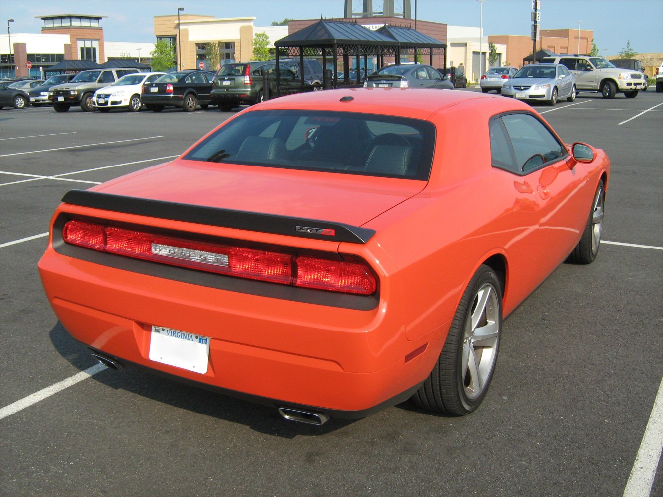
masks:
<svg viewBox="0 0 663 497"><path fill-rule="evenodd" d="M364 87L453 89L453 83L428 64L392 64L370 74Z"/></svg>

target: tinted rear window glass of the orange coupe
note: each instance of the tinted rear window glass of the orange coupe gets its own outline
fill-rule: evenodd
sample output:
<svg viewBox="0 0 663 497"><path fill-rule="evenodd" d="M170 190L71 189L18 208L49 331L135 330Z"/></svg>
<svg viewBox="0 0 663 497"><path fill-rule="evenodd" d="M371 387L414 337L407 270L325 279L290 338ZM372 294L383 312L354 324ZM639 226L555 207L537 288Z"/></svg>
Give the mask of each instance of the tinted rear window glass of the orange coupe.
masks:
<svg viewBox="0 0 663 497"><path fill-rule="evenodd" d="M238 116L184 158L428 180L435 127L404 117L320 111Z"/></svg>

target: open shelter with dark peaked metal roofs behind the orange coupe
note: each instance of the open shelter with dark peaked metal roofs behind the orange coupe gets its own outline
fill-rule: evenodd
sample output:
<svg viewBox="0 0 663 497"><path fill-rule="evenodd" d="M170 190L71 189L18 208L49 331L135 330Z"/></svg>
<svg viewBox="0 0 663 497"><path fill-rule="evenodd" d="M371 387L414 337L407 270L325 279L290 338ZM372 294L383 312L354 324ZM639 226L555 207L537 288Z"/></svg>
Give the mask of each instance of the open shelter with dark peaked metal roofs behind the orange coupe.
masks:
<svg viewBox="0 0 663 497"><path fill-rule="evenodd" d="M327 68L327 60L333 62L333 86L338 84L337 61L343 58L344 81L348 81L349 58L356 58L357 81L360 83L359 62L363 57L364 67L367 67L369 56L377 57L379 65L385 63L385 56L394 57L400 61L402 54L426 54L430 56L430 64L434 54L444 54L444 65L446 67L446 44L430 36L418 32L412 28L385 26L379 30L370 30L357 23L343 21L324 21L320 19L317 23L302 30L294 32L274 43L276 47L276 62L282 56L299 56L300 64L304 65L304 57L322 58L322 66ZM300 74L302 85L304 75ZM278 72L276 72L276 87L280 86Z"/></svg>

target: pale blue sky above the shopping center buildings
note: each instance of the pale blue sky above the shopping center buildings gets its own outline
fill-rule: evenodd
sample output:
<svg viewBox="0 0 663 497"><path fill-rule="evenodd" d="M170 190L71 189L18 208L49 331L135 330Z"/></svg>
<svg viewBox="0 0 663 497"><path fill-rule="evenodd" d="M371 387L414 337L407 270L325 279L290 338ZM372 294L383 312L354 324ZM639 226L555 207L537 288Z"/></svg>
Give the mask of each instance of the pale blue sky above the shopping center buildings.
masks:
<svg viewBox="0 0 663 497"><path fill-rule="evenodd" d="M383 2L373 0L378 9ZM395 0L396 9L402 0ZM415 0L412 0L414 15ZM104 15L107 41L153 42L152 17L186 13L214 17L255 17L255 26L272 21L342 17L343 0L29 0L0 1L0 26L14 19L11 32L40 32L40 15ZM417 18L452 26L478 27L481 4L477 0L417 0ZM483 28L490 34L530 33L531 0L486 0ZM361 0L353 0L355 11ZM630 40L636 52L663 52L662 0L541 0L541 28L591 29L599 53L619 54Z"/></svg>

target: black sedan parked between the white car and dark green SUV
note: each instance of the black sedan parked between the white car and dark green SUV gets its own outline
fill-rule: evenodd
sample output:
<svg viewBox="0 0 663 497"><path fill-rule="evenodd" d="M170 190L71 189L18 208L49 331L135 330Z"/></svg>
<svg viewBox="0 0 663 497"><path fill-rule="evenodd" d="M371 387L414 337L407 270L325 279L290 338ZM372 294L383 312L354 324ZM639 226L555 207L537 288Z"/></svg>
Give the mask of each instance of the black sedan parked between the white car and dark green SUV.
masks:
<svg viewBox="0 0 663 497"><path fill-rule="evenodd" d="M186 70L164 74L154 83L143 85L143 104L152 112L161 112L164 107L180 107L193 112L198 105L207 109L211 102L213 72Z"/></svg>

